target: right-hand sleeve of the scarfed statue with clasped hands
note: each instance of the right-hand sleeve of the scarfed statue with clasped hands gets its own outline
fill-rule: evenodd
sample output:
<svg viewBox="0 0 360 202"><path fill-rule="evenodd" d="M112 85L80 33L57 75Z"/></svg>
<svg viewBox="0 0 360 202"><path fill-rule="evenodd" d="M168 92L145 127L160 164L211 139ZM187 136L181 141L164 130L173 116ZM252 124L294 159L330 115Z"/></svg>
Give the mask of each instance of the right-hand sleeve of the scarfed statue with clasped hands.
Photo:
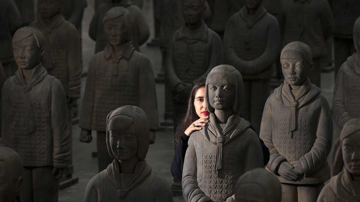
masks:
<svg viewBox="0 0 360 202"><path fill-rule="evenodd" d="M305 177L314 174L323 166L330 153L333 140L331 109L324 97L321 96L316 102L315 110L313 115L318 117L318 120L315 120L318 121L316 140L310 152L299 159Z"/></svg>

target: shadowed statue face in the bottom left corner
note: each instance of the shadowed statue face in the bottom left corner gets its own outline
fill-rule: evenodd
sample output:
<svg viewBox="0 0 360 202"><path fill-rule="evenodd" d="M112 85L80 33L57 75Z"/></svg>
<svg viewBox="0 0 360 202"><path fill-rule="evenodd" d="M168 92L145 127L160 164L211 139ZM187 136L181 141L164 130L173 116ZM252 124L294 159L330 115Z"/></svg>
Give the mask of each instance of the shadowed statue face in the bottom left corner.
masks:
<svg viewBox="0 0 360 202"><path fill-rule="evenodd" d="M18 183L10 176L4 161L0 161L0 201L12 202L18 196Z"/></svg>

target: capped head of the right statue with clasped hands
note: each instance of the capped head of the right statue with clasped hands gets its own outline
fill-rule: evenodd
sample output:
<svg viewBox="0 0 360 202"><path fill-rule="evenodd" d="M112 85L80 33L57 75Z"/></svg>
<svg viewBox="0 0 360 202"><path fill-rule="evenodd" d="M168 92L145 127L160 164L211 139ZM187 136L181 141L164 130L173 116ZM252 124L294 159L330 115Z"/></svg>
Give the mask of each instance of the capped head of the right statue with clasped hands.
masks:
<svg viewBox="0 0 360 202"><path fill-rule="evenodd" d="M314 66L310 47L300 41L291 42L283 48L280 62L285 82L291 86L301 86Z"/></svg>

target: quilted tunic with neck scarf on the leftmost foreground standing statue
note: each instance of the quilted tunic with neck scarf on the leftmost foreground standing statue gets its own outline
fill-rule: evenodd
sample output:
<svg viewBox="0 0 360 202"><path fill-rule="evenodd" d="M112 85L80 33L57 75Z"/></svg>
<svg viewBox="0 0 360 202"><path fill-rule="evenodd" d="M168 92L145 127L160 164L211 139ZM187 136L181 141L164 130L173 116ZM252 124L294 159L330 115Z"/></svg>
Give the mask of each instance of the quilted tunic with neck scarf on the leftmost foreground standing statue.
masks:
<svg viewBox="0 0 360 202"><path fill-rule="evenodd" d="M58 79L40 63L28 86L18 70L4 83L2 102L2 141L19 154L23 166L68 166L66 96Z"/></svg>

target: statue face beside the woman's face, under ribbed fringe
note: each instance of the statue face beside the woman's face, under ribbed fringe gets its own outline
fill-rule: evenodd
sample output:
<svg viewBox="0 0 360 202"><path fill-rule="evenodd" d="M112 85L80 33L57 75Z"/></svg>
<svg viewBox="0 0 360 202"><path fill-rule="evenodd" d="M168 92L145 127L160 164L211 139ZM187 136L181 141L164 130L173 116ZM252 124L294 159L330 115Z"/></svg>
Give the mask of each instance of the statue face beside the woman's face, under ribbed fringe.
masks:
<svg viewBox="0 0 360 202"><path fill-rule="evenodd" d="M228 110L234 105L235 88L229 84L209 83L210 105L216 110Z"/></svg>

